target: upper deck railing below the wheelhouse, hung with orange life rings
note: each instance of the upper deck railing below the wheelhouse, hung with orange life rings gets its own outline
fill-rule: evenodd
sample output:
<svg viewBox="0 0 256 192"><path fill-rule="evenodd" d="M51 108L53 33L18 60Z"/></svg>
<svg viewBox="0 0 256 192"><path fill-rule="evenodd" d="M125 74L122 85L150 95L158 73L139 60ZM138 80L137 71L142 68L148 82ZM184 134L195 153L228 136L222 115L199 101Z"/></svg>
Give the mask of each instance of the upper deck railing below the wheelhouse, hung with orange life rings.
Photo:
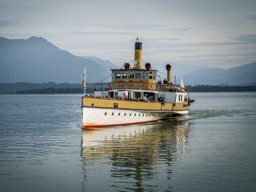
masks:
<svg viewBox="0 0 256 192"><path fill-rule="evenodd" d="M145 82L111 82L94 84L94 91L110 91L120 89L135 89L159 92L176 92L179 88L173 84L157 84Z"/></svg>

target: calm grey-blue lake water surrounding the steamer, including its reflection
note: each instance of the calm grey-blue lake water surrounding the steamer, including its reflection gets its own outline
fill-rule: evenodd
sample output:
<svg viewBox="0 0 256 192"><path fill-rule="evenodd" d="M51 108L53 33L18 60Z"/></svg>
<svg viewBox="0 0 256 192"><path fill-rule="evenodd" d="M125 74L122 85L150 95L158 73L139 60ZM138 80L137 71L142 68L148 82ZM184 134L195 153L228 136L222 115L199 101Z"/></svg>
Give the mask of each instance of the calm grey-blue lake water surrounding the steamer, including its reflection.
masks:
<svg viewBox="0 0 256 192"><path fill-rule="evenodd" d="M256 191L256 93L188 121L81 129L79 94L0 95L1 191Z"/></svg>

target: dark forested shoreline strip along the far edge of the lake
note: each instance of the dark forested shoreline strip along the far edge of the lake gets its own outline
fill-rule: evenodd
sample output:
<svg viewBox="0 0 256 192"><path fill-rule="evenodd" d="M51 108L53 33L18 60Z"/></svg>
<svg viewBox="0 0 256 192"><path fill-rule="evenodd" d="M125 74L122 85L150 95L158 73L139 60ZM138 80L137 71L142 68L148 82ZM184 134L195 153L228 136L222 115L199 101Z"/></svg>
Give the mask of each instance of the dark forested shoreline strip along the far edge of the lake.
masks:
<svg viewBox="0 0 256 192"><path fill-rule="evenodd" d="M189 92L251 92L256 86L187 85ZM0 83L0 93L11 94L62 94L83 93L82 84L71 83ZM93 92L93 84L86 83L86 92Z"/></svg>

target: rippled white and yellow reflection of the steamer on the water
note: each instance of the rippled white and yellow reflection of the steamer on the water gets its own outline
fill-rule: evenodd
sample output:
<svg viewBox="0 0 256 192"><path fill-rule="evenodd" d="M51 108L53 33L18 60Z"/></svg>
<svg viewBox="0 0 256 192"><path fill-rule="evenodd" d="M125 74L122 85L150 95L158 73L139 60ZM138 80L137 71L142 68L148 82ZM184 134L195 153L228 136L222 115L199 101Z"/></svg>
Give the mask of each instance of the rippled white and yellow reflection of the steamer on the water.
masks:
<svg viewBox="0 0 256 192"><path fill-rule="evenodd" d="M186 152L188 125L188 121L173 121L83 130L85 178L90 177L87 170L110 165L109 180L116 187L120 183L118 179L132 178L135 180L129 189L143 190L147 186L142 181L157 177L156 167L165 164L166 177L170 179L173 162L180 161Z"/></svg>

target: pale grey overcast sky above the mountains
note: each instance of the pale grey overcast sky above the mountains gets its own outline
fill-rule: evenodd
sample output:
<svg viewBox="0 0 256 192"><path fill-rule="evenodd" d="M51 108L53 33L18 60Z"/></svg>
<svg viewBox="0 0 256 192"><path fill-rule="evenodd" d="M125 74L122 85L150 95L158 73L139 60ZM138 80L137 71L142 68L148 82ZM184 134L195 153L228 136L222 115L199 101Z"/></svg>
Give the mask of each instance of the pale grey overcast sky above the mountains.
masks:
<svg viewBox="0 0 256 192"><path fill-rule="evenodd" d="M256 0L0 0L0 36L43 37L78 56L228 69L256 61Z"/></svg>

